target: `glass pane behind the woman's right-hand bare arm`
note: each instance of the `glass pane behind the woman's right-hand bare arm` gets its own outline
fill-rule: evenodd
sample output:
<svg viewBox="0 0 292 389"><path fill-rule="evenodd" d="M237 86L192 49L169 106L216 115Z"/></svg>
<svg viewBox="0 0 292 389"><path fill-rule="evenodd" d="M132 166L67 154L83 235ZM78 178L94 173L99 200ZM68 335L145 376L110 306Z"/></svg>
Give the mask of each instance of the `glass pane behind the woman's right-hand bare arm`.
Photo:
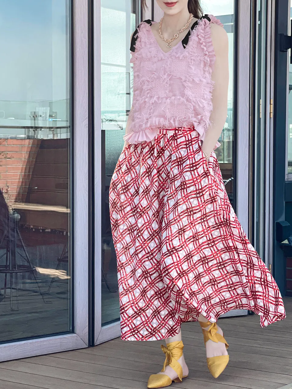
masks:
<svg viewBox="0 0 292 389"><path fill-rule="evenodd" d="M235 177L235 166L233 161L234 155L234 34L235 15L234 15L234 0L225 0L218 2L217 0L202 0L201 5L204 14L212 14L218 18L224 25L225 31L229 38L229 89L228 89L228 111L225 126L220 135L219 142L221 146L216 149L216 156L219 161L223 180L225 182L226 191L229 200L234 207L234 187L233 180Z"/></svg>

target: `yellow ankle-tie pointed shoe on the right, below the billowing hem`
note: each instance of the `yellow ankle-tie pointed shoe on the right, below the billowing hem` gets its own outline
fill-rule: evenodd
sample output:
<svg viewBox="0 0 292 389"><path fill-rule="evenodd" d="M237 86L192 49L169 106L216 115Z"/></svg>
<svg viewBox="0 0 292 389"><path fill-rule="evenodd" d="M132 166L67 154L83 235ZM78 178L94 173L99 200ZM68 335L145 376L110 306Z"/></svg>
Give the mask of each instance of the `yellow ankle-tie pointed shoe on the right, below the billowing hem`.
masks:
<svg viewBox="0 0 292 389"><path fill-rule="evenodd" d="M225 343L225 347L226 347L226 349L228 349L229 344L224 339L224 336L217 333L218 328L217 328L216 323L211 323L209 321L207 321L207 322L199 321L199 324L200 324L202 331L203 331L205 346L206 346L206 342L208 340L212 340L213 342L216 342L216 343L218 343L218 342ZM208 326L210 326L210 328L207 331L205 328L207 328ZM228 362L229 362L229 355L219 355L219 356L215 356L215 357L207 357L207 366L208 366L210 373L213 375L214 378L219 377L219 375L222 373L222 371L227 366Z"/></svg>

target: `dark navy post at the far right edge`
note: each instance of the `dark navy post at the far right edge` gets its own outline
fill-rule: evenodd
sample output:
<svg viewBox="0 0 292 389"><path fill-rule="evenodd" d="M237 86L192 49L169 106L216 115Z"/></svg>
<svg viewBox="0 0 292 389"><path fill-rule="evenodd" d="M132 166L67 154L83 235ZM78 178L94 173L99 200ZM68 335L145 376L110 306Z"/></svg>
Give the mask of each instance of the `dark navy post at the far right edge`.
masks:
<svg viewBox="0 0 292 389"><path fill-rule="evenodd" d="M292 225L291 187L291 2L274 2L274 113L273 113L273 277L283 296L292 295L291 262L281 242L288 243L286 229ZM280 229L279 229L280 227ZM290 230L291 234L291 230ZM289 235L289 234L288 234ZM287 255L288 254L288 255ZM289 263L290 262L290 263Z"/></svg>

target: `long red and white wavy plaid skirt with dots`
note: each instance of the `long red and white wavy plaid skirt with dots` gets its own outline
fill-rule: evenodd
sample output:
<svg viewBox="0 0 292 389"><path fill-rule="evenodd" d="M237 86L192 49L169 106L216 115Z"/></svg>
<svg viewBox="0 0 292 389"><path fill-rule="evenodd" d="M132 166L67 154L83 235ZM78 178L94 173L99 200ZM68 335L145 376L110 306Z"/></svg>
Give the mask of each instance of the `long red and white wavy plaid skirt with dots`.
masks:
<svg viewBox="0 0 292 389"><path fill-rule="evenodd" d="M121 338L158 340L182 322L229 310L285 319L278 286L229 202L216 154L204 158L196 130L159 130L127 144L109 205L118 262Z"/></svg>

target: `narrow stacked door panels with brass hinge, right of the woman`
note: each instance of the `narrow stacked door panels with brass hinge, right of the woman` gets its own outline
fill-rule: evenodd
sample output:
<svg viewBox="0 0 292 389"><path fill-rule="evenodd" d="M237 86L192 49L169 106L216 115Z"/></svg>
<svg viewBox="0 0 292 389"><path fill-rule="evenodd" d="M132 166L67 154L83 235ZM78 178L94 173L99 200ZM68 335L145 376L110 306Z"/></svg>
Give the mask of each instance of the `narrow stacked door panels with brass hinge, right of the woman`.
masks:
<svg viewBox="0 0 292 389"><path fill-rule="evenodd" d="M273 251L273 2L254 2L252 15L251 196L253 245L267 266Z"/></svg>

